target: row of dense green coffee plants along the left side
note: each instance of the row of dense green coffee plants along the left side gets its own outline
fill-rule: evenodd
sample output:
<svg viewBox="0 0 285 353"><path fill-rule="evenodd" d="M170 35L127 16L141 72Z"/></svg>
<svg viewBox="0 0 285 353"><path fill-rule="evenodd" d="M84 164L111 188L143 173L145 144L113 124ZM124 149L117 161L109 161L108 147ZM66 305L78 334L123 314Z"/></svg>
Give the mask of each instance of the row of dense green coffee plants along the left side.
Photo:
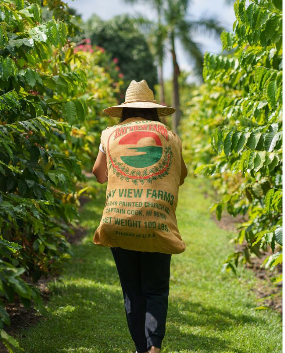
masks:
<svg viewBox="0 0 285 353"><path fill-rule="evenodd" d="M9 351L18 343L5 305L40 308L32 280L72 255L63 233L79 218L82 168L106 127L99 111L116 103L100 52L68 39L78 23L59 0L0 1L0 337Z"/></svg>

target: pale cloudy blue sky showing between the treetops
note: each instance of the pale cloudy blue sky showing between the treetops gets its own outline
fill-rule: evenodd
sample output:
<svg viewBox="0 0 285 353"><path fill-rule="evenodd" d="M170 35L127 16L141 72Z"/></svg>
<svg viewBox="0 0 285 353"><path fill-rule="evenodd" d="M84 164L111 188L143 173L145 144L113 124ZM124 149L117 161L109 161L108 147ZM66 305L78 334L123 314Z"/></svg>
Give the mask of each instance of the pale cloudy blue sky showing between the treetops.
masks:
<svg viewBox="0 0 285 353"><path fill-rule="evenodd" d="M123 0L65 0L65 2L69 7L76 9L77 13L82 15L83 20L87 20L93 14L98 15L102 20L109 20L116 15L131 15L136 12L143 13L144 16L150 19L155 18L155 11L151 7L147 5L125 4ZM203 16L215 16L221 25L229 31L232 31L235 21L234 7L233 5L227 5L226 0L192 0L190 14L194 19L199 19ZM221 52L222 45L220 39L199 33L196 35L195 41L201 44L203 52ZM177 43L177 61L181 69L191 72L193 63L191 63L179 43ZM171 78L172 61L170 53L165 60L163 71L166 79Z"/></svg>

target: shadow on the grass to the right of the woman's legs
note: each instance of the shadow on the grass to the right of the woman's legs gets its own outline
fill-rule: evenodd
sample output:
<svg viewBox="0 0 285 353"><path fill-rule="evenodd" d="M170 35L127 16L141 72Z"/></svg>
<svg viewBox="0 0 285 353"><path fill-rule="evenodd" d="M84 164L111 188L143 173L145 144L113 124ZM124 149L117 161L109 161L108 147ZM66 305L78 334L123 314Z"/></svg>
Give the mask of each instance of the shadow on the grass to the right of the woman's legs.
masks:
<svg viewBox="0 0 285 353"><path fill-rule="evenodd" d="M247 350L233 348L233 342L218 336L221 336L221 332L231 331L237 325L260 324L260 321L249 315L234 315L227 310L174 298L169 300L167 322L163 343L167 347L166 352L186 352L190 348L191 351L199 352L222 353L229 350L244 353ZM195 333L185 332L192 329ZM213 330L216 337L211 335Z"/></svg>

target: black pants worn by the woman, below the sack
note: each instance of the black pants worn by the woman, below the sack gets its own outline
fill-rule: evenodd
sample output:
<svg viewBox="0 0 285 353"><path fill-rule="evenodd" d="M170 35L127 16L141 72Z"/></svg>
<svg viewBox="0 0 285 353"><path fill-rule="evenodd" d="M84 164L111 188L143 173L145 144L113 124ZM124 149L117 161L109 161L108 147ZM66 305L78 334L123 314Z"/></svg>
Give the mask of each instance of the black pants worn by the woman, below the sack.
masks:
<svg viewBox="0 0 285 353"><path fill-rule="evenodd" d="M120 277L128 328L138 353L161 348L171 254L110 248Z"/></svg>

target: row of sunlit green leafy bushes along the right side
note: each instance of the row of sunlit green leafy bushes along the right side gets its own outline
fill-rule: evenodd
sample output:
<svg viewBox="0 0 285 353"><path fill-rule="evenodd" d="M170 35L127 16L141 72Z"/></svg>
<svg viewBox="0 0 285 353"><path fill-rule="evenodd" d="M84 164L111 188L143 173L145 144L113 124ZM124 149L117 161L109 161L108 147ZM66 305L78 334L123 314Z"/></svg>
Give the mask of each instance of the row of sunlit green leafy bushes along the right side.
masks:
<svg viewBox="0 0 285 353"><path fill-rule="evenodd" d="M247 219L223 268L236 271L269 248L264 265L273 269L282 260L282 2L234 7L234 33L221 35L228 54L205 54L205 84L193 92L181 131L188 163L221 196L211 210L219 220L224 210Z"/></svg>

